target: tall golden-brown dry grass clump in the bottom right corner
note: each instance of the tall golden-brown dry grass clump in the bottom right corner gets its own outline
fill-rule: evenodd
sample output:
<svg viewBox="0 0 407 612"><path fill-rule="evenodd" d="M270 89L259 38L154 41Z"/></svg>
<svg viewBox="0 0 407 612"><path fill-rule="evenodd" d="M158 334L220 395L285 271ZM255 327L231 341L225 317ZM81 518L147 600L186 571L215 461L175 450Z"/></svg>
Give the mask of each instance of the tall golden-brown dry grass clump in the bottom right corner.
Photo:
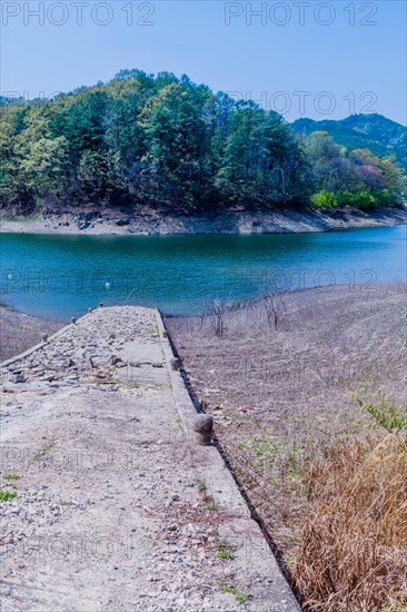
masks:
<svg viewBox="0 0 407 612"><path fill-rule="evenodd" d="M310 513L294 566L306 610L405 610L407 435L340 442L306 478Z"/></svg>

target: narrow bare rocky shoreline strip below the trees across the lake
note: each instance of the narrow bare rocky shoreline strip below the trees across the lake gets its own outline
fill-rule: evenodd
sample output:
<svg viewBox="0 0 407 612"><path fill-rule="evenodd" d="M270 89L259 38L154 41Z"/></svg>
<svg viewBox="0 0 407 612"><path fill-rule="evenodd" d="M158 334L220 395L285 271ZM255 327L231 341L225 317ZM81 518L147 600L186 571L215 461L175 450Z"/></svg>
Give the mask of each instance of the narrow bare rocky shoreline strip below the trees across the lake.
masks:
<svg viewBox="0 0 407 612"><path fill-rule="evenodd" d="M374 210L248 211L227 210L220 215L162 215L153 210L126 215L83 213L50 217L0 217L1 234L46 234L73 236L169 236L308 234L336 229L391 227L407 224L407 206Z"/></svg>

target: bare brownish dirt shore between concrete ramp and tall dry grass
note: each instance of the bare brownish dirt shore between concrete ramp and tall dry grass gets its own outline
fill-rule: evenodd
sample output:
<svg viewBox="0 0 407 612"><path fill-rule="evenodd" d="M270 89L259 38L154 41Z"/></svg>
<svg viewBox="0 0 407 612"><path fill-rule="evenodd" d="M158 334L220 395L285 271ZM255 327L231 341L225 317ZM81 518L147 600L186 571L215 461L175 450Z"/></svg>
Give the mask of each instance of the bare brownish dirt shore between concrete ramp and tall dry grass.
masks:
<svg viewBox="0 0 407 612"><path fill-rule="evenodd" d="M394 401L407 414L406 286L316 288L284 296L284 305L276 299L277 328L264 300L166 325L236 474L294 566L308 512L305 464L377 428L355 394Z"/></svg>

